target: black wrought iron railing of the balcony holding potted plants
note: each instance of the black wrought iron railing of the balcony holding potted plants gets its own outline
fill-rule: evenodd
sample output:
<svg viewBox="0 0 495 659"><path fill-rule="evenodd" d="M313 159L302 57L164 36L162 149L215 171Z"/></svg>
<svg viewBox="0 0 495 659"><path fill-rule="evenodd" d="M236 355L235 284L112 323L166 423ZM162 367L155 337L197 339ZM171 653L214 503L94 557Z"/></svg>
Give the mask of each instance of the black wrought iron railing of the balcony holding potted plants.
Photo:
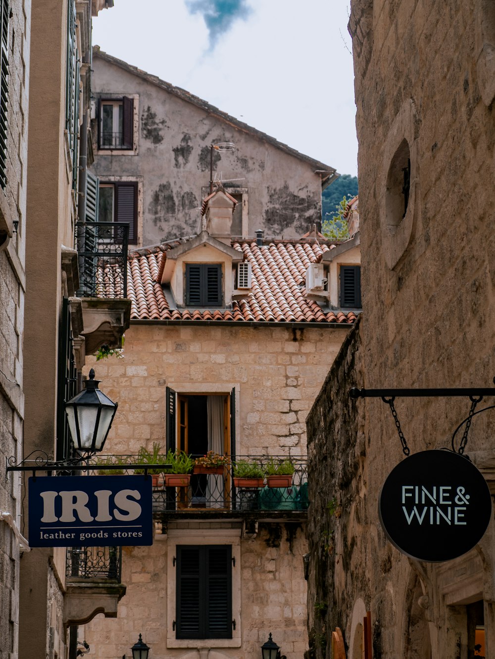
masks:
<svg viewBox="0 0 495 659"><path fill-rule="evenodd" d="M118 455L103 457L106 464L115 461L116 471L105 473L132 474L125 471L125 464L136 463L135 455ZM195 471L183 478L183 482L172 485L168 482L170 474L152 474L153 512L158 513L225 513L263 511L306 511L308 509L308 464L306 457L291 458L294 473L287 482L273 484L271 478L263 476L257 482L239 481L234 477L236 461L256 462L261 468L270 459L282 463L287 455L253 456L238 455L232 463L218 473L198 473ZM110 461L110 462L108 462ZM103 472L102 472L103 473Z"/></svg>

